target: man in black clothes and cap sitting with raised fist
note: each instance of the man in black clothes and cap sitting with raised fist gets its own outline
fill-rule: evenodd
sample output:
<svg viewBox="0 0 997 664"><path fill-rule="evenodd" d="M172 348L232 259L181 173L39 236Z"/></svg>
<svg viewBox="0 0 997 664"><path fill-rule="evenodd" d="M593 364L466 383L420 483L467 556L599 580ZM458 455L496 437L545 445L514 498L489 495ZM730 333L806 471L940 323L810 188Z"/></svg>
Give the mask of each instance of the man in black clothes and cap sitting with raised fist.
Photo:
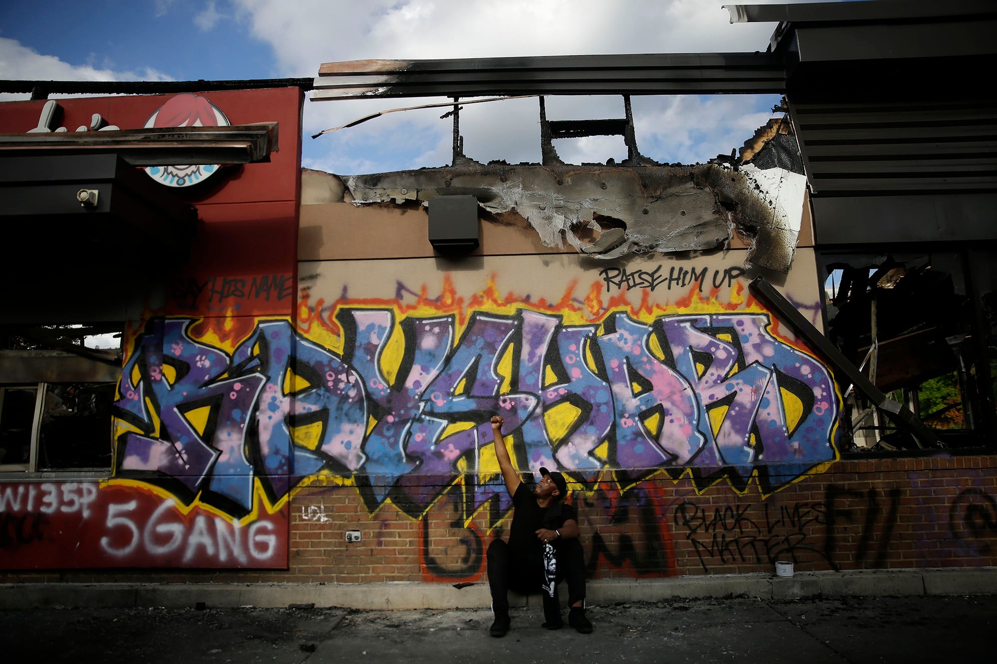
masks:
<svg viewBox="0 0 997 664"><path fill-rule="evenodd" d="M560 473L540 469L540 482L534 491L522 484L512 468L502 440L500 417L492 418L498 468L505 489L512 497L512 525L508 543L494 539L489 544L489 587L492 590L492 636L508 631L508 590L528 594L543 593L544 626L563 626L557 601L557 582L567 579L568 624L582 634L592 631L585 617L585 556L578 541L578 521L574 507L562 502L567 484Z"/></svg>

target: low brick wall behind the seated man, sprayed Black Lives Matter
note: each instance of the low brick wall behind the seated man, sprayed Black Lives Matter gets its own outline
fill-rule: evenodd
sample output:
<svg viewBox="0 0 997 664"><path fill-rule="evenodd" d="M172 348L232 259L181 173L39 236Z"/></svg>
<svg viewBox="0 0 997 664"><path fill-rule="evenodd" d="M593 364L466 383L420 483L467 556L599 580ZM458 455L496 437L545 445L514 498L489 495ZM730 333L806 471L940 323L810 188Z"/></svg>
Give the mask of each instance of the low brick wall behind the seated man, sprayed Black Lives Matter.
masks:
<svg viewBox="0 0 997 664"><path fill-rule="evenodd" d="M772 572L777 559L797 571L997 565L995 461L842 461L767 498L755 485L697 492L659 472L628 486L606 472L585 491L573 485L571 499L591 577ZM356 487L313 484L291 500L286 571L8 572L0 582L484 581L484 551L508 514L490 523L487 504L465 523L463 499L456 484L413 517L390 500L371 512ZM362 540L347 543L348 529Z"/></svg>

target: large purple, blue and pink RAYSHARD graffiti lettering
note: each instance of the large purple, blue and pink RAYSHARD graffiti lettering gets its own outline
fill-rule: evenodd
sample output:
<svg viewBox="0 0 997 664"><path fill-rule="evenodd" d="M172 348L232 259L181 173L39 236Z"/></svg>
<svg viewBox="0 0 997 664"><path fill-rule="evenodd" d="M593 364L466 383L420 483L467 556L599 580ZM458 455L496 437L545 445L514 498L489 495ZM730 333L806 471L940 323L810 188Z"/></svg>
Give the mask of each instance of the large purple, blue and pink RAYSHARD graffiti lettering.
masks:
<svg viewBox="0 0 997 664"><path fill-rule="evenodd" d="M523 469L692 471L774 491L836 456L831 374L767 313L567 325L473 311L460 335L453 315L395 316L338 309L340 353L283 320L231 353L195 340L193 320L151 321L119 384L118 474L155 472L177 498L235 515L257 481L275 503L325 471L352 476L371 508L392 498L418 516L449 488L419 478L463 476L471 513L493 498L500 512L496 413Z"/></svg>

